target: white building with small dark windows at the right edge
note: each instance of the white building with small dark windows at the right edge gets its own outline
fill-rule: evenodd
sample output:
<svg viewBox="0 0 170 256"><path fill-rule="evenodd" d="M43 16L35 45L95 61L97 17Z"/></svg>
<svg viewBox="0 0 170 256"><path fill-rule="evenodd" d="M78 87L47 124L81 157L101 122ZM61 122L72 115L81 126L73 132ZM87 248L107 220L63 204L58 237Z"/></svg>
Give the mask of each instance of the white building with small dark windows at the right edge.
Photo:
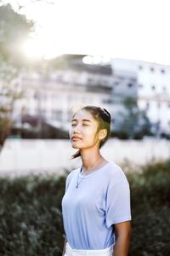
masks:
<svg viewBox="0 0 170 256"><path fill-rule="evenodd" d="M113 59L111 66L115 74L136 77L139 108L147 111L159 132L169 133L170 66L123 59Z"/></svg>

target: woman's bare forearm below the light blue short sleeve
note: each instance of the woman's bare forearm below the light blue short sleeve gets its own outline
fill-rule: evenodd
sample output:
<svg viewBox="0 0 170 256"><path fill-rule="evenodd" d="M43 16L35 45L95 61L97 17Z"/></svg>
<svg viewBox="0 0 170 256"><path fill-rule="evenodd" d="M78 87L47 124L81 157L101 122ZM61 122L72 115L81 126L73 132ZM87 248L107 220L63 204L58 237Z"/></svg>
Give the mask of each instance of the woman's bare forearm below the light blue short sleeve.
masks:
<svg viewBox="0 0 170 256"><path fill-rule="evenodd" d="M116 234L116 245L114 256L127 256L131 238L131 222L125 221L114 224Z"/></svg>

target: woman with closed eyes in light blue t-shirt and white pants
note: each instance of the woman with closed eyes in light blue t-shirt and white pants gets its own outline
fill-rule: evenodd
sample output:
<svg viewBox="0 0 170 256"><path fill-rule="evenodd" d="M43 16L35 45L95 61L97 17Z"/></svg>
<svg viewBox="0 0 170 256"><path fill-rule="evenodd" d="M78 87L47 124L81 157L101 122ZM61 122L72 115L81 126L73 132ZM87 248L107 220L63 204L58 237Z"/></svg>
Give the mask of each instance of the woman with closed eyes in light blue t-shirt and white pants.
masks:
<svg viewBox="0 0 170 256"><path fill-rule="evenodd" d="M63 255L127 256L131 234L130 191L120 166L99 148L110 135L111 114L86 106L75 113L69 131L82 166L69 173L62 199Z"/></svg>

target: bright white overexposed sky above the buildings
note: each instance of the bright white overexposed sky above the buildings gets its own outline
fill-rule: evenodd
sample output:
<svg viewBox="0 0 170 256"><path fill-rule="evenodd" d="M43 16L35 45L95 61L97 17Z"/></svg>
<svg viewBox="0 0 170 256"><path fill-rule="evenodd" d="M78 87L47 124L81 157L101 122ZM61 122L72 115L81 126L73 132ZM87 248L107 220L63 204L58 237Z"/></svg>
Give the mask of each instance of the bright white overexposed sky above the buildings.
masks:
<svg viewBox="0 0 170 256"><path fill-rule="evenodd" d="M30 58L85 54L170 65L169 0L8 2L36 20L23 45Z"/></svg>

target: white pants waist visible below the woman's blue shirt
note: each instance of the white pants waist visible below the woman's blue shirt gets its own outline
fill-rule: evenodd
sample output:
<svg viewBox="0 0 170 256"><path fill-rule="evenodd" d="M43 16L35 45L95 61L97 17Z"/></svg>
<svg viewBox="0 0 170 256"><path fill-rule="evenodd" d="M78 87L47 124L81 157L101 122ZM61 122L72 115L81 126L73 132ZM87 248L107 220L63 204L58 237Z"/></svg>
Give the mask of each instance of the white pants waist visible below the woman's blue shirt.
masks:
<svg viewBox="0 0 170 256"><path fill-rule="evenodd" d="M80 250L72 249L68 241L65 244L65 255L64 256L79 256L79 255L93 255L93 256L112 256L113 245L102 250Z"/></svg>

